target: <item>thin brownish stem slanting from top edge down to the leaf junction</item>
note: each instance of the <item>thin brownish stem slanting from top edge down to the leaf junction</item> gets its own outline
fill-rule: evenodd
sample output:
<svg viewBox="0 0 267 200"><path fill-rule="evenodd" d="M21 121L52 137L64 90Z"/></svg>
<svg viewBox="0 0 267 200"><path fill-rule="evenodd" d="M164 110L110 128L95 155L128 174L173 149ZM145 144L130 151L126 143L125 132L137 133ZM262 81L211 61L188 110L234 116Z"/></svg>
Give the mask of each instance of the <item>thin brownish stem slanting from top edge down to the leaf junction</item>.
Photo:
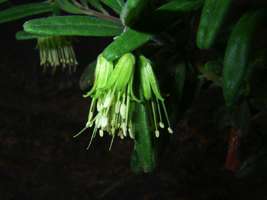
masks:
<svg viewBox="0 0 267 200"><path fill-rule="evenodd" d="M77 6L78 8L81 9L82 13L84 13L86 15L95 16L95 17L98 17L100 19L107 19L107 20L113 21L115 23L121 23L120 19L117 17L111 16L111 15L106 15L106 14L103 14L101 12L97 12L95 10L92 10L88 7L84 7L83 5L81 5L80 3L78 3L75 0L72 0L72 2L75 6Z"/></svg>

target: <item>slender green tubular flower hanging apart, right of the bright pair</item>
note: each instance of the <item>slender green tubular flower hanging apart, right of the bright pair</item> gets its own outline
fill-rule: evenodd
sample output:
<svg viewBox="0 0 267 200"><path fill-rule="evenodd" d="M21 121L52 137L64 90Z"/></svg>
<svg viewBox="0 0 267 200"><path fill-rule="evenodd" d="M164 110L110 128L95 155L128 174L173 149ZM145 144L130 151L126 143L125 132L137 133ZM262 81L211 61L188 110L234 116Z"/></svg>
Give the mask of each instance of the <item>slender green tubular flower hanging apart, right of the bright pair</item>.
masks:
<svg viewBox="0 0 267 200"><path fill-rule="evenodd" d="M152 111L152 119L155 128L155 136L159 137L159 129L164 128L162 110L165 116L165 121L168 125L168 132L173 133L173 130L170 126L170 121L168 118L167 109L164 103L164 98L161 96L157 79L152 69L151 61L145 58L144 56L139 57L140 63L140 80L141 88L144 99L149 102Z"/></svg>

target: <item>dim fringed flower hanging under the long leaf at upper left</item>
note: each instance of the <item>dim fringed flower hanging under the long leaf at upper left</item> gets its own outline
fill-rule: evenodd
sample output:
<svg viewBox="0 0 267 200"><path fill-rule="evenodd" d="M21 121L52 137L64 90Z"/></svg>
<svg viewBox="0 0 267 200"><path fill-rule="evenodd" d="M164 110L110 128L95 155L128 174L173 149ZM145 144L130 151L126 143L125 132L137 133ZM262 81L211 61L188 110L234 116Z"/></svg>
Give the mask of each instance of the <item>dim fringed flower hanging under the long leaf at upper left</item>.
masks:
<svg viewBox="0 0 267 200"><path fill-rule="evenodd" d="M56 68L62 65L63 69L68 68L70 73L76 71L78 62L71 41L66 37L39 37L37 48L40 53L40 65L44 66L44 70L50 66L55 72Z"/></svg>

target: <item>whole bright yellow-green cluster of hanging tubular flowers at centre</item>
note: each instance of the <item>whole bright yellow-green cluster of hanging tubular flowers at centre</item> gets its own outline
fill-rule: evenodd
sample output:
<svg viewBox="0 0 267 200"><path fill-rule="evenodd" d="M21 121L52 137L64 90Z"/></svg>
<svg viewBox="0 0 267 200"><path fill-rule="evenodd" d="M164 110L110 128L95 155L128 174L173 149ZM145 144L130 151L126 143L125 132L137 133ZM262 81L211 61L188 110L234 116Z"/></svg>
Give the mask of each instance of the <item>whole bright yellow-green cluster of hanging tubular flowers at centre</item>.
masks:
<svg viewBox="0 0 267 200"><path fill-rule="evenodd" d="M140 69L142 85L140 99L149 102L151 106L155 136L159 137L158 127L164 128L162 109L168 123L168 131L172 133L164 99L160 94L151 62L144 56L140 56L137 66ZM85 127L74 136L77 137L86 129L93 127L88 148L97 133L100 137L104 134L111 135L112 142L115 136L122 139L127 136L132 139L135 137L130 111L134 109L133 101L142 103L133 92L135 67L136 60L131 53L124 54L116 64L106 60L102 54L98 56L94 85L84 95L92 98L88 120Z"/></svg>

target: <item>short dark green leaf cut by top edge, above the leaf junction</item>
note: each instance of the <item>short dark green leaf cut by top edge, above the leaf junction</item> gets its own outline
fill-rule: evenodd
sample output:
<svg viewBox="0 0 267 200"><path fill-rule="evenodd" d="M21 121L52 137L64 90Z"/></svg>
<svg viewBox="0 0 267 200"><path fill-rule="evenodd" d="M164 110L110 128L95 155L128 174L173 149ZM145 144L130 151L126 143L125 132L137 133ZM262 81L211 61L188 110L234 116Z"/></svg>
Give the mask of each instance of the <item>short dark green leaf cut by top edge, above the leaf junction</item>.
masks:
<svg viewBox="0 0 267 200"><path fill-rule="evenodd" d="M121 12L121 20L123 24L133 25L146 11L150 0L128 0Z"/></svg>

